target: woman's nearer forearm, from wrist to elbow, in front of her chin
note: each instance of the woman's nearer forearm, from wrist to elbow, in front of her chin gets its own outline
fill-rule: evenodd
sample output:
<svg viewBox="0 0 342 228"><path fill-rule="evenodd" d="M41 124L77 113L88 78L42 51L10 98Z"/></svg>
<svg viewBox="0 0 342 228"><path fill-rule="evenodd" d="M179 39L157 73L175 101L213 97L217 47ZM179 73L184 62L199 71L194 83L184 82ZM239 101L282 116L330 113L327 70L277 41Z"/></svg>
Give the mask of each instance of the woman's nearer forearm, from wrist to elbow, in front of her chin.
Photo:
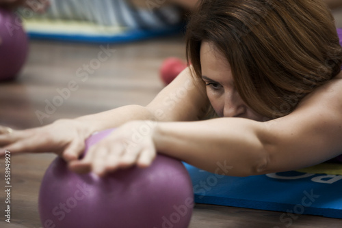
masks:
<svg viewBox="0 0 342 228"><path fill-rule="evenodd" d="M260 123L248 119L220 118L202 122L158 123L155 145L190 165L215 172L231 167L226 175L257 175L267 165L258 138Z"/></svg>

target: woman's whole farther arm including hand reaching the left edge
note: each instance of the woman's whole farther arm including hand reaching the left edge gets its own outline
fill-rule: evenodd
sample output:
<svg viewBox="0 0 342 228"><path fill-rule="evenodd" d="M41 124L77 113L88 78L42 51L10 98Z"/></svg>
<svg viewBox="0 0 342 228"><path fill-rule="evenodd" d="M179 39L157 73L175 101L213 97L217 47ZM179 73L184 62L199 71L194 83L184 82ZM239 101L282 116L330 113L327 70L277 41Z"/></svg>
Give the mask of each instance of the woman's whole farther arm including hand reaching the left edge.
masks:
<svg viewBox="0 0 342 228"><path fill-rule="evenodd" d="M133 120L197 120L209 102L204 88L195 84L189 70L184 70L147 106L122 106L76 119L60 119L40 128L0 133L0 156L7 149L12 154L54 152L65 160L77 160L83 153L85 140L96 131L117 128Z"/></svg>

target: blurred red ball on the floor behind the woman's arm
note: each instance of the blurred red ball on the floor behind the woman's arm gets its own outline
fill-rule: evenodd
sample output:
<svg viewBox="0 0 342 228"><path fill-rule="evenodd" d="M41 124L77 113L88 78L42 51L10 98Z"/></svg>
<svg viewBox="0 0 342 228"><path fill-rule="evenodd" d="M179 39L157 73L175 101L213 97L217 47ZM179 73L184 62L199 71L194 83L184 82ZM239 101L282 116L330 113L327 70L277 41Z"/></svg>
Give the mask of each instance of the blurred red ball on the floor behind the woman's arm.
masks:
<svg viewBox="0 0 342 228"><path fill-rule="evenodd" d="M174 57L166 59L160 68L161 81L165 85L170 84L185 68L187 68L187 63L181 59Z"/></svg>

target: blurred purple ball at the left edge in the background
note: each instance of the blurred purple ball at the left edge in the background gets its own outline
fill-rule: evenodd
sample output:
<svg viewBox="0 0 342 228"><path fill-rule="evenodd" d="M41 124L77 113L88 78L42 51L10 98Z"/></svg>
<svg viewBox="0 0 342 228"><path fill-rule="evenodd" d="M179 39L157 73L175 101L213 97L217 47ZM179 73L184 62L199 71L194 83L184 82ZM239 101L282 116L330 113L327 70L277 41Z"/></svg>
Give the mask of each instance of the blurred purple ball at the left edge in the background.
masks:
<svg viewBox="0 0 342 228"><path fill-rule="evenodd" d="M27 51L27 35L20 18L0 8L0 81L15 79L25 63Z"/></svg>

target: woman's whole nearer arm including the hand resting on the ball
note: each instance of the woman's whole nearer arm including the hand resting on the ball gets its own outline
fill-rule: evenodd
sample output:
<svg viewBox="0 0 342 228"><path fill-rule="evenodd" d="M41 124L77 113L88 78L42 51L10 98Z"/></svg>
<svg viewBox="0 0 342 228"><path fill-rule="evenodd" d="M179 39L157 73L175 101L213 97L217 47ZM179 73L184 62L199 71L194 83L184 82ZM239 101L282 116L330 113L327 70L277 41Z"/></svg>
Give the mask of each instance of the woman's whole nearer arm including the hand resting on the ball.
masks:
<svg viewBox="0 0 342 228"><path fill-rule="evenodd" d="M98 175L138 165L157 152L226 175L247 176L316 165L342 151L342 79L306 96L293 113L268 122L218 118L195 122L129 122L70 163ZM140 131L141 129L144 129ZM139 135L137 135L139 132Z"/></svg>

